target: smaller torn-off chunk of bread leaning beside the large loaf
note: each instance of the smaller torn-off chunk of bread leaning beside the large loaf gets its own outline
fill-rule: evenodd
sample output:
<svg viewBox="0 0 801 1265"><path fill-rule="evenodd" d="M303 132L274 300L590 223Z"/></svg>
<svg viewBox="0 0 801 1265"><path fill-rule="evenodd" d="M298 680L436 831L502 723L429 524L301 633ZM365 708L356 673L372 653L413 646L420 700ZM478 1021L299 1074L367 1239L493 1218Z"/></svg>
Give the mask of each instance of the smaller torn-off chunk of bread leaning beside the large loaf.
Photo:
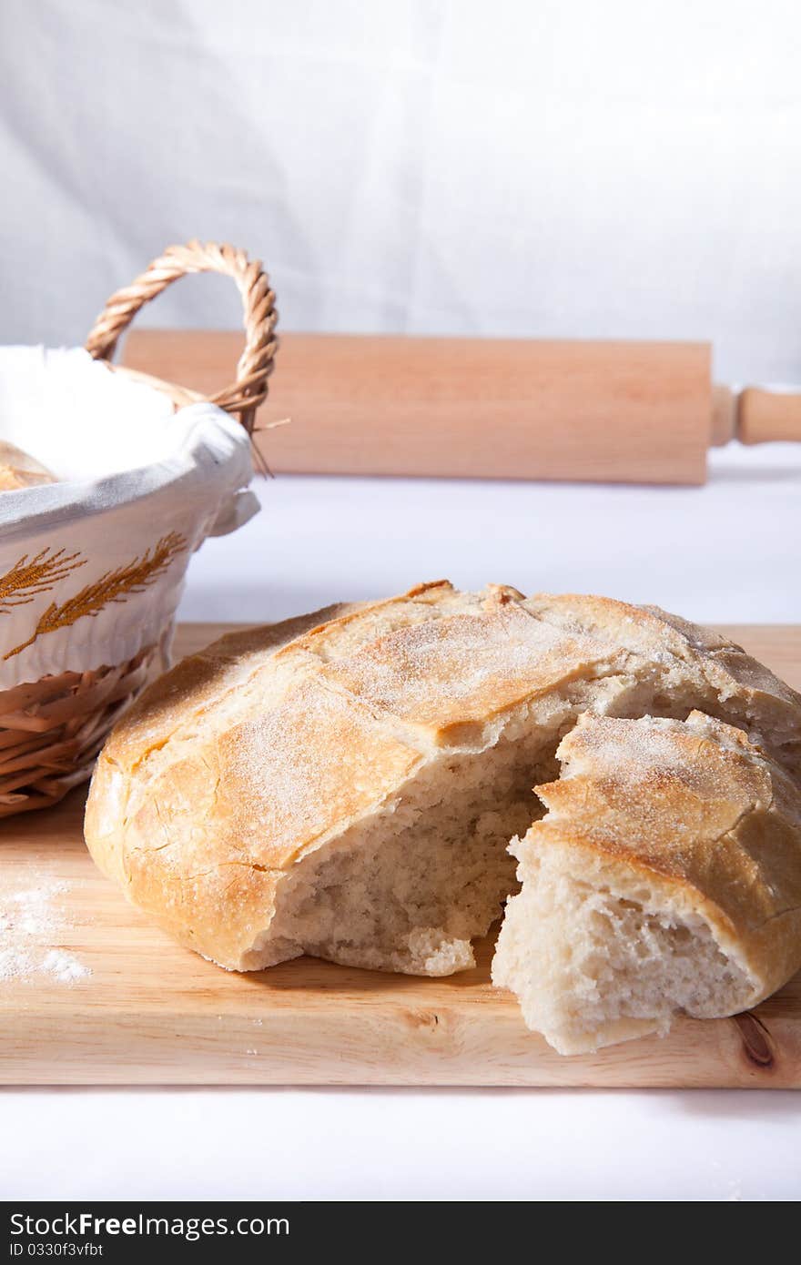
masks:
<svg viewBox="0 0 801 1265"><path fill-rule="evenodd" d="M730 725L585 715L512 841L494 983L561 1054L735 1015L801 968L801 793Z"/></svg>

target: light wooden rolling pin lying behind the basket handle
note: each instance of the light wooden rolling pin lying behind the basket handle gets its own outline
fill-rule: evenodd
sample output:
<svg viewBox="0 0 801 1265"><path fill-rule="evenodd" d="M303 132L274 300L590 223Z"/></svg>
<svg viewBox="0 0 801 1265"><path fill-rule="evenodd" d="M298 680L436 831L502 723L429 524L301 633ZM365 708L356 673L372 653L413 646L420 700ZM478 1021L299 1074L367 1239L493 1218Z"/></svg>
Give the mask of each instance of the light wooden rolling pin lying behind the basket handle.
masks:
<svg viewBox="0 0 801 1265"><path fill-rule="evenodd" d="M133 330L124 363L213 393L242 334ZM801 439L801 396L712 386L702 343L282 334L275 472L704 483L710 444Z"/></svg>

